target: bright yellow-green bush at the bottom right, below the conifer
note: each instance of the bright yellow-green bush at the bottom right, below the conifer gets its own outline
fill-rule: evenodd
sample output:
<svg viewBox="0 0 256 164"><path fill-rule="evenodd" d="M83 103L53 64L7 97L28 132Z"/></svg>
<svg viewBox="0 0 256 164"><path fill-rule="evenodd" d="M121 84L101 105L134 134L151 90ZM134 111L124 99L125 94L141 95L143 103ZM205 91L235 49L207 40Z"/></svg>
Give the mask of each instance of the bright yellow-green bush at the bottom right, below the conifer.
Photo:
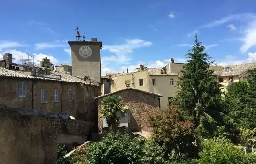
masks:
<svg viewBox="0 0 256 164"><path fill-rule="evenodd" d="M199 164L244 164L243 151L226 139L212 138L203 142Z"/></svg>

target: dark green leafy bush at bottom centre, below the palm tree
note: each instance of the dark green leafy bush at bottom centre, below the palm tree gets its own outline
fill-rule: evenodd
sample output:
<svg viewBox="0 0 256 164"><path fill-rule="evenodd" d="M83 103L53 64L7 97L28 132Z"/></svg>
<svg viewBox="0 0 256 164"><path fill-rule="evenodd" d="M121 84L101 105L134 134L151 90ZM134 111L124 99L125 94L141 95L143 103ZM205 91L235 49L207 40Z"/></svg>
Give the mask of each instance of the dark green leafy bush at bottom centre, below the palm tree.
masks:
<svg viewBox="0 0 256 164"><path fill-rule="evenodd" d="M127 133L109 132L100 142L91 142L89 164L139 164L143 142Z"/></svg>

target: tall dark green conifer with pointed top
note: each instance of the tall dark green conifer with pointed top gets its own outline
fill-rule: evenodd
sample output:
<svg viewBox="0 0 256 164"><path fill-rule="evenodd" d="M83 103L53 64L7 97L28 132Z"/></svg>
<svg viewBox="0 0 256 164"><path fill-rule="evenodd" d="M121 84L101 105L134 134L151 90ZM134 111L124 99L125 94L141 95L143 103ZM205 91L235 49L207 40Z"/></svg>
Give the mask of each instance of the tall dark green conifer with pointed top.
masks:
<svg viewBox="0 0 256 164"><path fill-rule="evenodd" d="M224 124L221 85L217 83L213 70L209 70L209 54L195 35L195 44L189 53L187 63L181 70L182 76L177 82L176 104L183 119L195 124L202 136L210 137L217 127Z"/></svg>

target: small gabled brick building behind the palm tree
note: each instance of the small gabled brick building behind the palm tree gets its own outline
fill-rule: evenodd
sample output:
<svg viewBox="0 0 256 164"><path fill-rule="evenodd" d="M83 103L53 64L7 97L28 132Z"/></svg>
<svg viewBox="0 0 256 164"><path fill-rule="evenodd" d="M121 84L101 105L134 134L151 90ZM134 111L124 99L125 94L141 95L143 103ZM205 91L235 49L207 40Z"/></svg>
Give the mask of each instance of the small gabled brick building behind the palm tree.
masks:
<svg viewBox="0 0 256 164"><path fill-rule="evenodd" d="M121 121L121 123L128 125L131 132L152 131L149 116L154 117L158 112L160 112L158 99L161 95L133 88L121 89L116 92L95 97L99 102L99 109L101 106L101 100L109 95L118 95L122 97L124 105L129 109L129 111L126 115L126 117L128 117L128 122L125 122L124 119L124 122ZM99 119L99 131L102 131L103 127L106 127L103 126L103 121L103 119Z"/></svg>

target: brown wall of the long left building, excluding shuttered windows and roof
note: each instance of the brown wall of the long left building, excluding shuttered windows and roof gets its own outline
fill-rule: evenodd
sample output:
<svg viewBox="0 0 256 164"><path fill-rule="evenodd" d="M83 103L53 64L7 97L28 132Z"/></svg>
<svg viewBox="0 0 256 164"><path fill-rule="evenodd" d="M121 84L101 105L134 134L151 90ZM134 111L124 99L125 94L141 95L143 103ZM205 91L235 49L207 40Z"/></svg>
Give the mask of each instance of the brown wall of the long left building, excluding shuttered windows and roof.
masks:
<svg viewBox="0 0 256 164"><path fill-rule="evenodd" d="M26 95L19 97L19 82L25 82ZM10 108L34 108L45 112L65 112L79 120L97 122L97 102L94 97L101 95L101 87L82 83L54 82L20 78L0 77L0 104ZM41 102L41 89L46 89L46 100ZM58 101L53 102L54 89L57 89ZM72 91L72 100L68 100L68 89Z"/></svg>

